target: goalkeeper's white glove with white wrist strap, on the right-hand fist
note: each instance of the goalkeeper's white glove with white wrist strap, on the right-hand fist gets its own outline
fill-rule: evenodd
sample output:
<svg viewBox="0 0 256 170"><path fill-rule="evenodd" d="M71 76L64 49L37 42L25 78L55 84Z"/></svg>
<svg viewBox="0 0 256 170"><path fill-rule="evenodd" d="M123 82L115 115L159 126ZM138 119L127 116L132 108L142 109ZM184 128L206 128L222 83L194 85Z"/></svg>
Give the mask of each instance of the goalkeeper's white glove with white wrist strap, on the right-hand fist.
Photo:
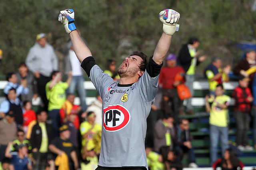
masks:
<svg viewBox="0 0 256 170"><path fill-rule="evenodd" d="M173 35L179 30L180 25L177 24L180 14L172 9L166 9L160 12L159 19L163 23L163 31L168 35Z"/></svg>

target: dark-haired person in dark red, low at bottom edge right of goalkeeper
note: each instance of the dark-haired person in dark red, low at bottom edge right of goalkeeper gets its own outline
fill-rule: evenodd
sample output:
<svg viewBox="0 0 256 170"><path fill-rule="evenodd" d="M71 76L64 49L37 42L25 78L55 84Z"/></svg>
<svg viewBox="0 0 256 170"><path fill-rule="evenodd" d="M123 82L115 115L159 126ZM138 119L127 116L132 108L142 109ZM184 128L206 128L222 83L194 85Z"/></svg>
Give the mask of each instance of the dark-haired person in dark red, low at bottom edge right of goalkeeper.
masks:
<svg viewBox="0 0 256 170"><path fill-rule="evenodd" d="M244 168L244 164L238 160L235 152L232 149L227 149L223 158L219 158L212 164L212 168L216 170L217 167L221 167L222 170L240 170Z"/></svg>

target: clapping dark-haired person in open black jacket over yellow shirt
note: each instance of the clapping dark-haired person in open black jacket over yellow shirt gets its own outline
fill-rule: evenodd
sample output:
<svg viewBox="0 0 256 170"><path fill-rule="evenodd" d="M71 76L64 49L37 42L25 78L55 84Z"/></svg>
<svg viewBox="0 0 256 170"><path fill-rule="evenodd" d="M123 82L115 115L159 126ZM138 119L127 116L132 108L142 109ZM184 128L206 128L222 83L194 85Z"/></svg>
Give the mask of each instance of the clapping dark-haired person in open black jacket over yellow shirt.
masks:
<svg viewBox="0 0 256 170"><path fill-rule="evenodd" d="M178 64L183 67L186 72L186 83L192 96L194 95L193 82L195 80L196 66L206 59L205 55L199 56L200 51L197 51L200 41L197 37L190 37L187 44L183 44L178 54ZM192 98L187 99L186 112L193 114L191 104Z"/></svg>

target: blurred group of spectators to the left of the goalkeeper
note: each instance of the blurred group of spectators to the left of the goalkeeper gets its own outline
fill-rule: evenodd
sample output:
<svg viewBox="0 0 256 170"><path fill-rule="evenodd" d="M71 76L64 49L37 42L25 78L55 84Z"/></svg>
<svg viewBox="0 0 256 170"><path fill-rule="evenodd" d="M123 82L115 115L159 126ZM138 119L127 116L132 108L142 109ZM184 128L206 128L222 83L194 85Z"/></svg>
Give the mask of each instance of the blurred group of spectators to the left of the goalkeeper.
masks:
<svg viewBox="0 0 256 170"><path fill-rule="evenodd" d="M97 94L87 107L83 72L71 41L64 56L67 78L62 82L54 49L40 33L17 73L6 74L6 99L0 103L0 169L97 167L102 100ZM74 104L76 92L80 106ZM33 107L38 97L40 105Z"/></svg>

